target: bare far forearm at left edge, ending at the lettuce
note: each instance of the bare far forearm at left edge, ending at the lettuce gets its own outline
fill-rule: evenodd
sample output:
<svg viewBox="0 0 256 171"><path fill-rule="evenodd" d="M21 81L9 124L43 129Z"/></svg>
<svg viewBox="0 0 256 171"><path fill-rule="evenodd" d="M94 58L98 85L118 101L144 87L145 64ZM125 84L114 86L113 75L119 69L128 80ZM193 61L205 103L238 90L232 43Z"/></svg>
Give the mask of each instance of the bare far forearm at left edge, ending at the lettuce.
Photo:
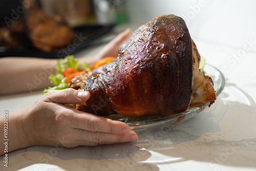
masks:
<svg viewBox="0 0 256 171"><path fill-rule="evenodd" d="M51 86L49 75L55 73L56 59L0 58L0 95L33 92Z"/></svg>

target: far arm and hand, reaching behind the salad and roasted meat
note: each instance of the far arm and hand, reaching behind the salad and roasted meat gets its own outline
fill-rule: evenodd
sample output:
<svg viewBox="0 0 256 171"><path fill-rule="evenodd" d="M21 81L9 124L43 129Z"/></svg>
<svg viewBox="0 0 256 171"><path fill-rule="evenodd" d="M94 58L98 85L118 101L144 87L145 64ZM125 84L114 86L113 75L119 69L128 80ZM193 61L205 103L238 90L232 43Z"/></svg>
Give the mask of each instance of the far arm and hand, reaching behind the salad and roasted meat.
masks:
<svg viewBox="0 0 256 171"><path fill-rule="evenodd" d="M131 29L126 29L116 38L105 45L94 57L79 58L79 66L87 62L89 65L95 60L106 56L118 56L118 49L122 42L129 37ZM33 92L51 86L48 79L55 74L57 59L5 57L0 58L0 95Z"/></svg>

